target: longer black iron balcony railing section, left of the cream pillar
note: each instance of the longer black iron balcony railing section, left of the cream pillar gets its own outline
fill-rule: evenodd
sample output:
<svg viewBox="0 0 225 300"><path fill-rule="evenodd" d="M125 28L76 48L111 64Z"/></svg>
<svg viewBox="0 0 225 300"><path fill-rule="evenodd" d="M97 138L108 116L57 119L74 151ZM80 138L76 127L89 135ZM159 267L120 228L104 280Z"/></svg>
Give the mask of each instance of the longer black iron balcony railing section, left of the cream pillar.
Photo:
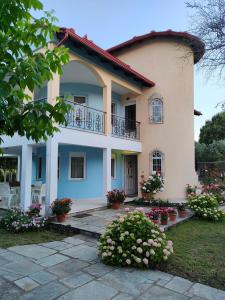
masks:
<svg viewBox="0 0 225 300"><path fill-rule="evenodd" d="M95 133L105 133L104 111L85 106L82 104L66 101L71 105L71 109L66 115L67 127Z"/></svg>

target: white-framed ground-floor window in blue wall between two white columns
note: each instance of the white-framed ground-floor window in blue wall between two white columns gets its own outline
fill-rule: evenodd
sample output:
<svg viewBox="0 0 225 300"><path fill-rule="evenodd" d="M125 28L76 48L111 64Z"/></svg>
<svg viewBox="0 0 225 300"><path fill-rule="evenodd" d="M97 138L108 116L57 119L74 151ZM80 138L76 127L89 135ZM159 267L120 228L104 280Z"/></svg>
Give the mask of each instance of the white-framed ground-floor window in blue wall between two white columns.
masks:
<svg viewBox="0 0 225 300"><path fill-rule="evenodd" d="M85 179L85 155L84 153L71 153L69 165L69 179Z"/></svg>

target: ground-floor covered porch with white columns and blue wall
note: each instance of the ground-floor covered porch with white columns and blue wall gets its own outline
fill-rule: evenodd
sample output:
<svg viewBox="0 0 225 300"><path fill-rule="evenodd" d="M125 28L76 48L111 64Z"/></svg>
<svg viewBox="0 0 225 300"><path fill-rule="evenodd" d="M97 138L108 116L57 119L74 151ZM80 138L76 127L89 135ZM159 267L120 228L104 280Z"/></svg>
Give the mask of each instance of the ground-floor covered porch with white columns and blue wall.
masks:
<svg viewBox="0 0 225 300"><path fill-rule="evenodd" d="M44 214L56 198L71 198L80 212L106 206L112 189L137 194L137 152L50 142L4 149L17 175L0 183L0 208L41 203Z"/></svg>

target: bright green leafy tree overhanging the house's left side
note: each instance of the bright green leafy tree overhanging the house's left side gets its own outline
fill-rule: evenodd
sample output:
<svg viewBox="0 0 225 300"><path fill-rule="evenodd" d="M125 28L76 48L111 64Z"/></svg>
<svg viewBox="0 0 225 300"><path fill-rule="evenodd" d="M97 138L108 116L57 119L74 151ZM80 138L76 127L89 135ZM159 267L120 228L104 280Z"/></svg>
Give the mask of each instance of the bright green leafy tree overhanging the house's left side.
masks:
<svg viewBox="0 0 225 300"><path fill-rule="evenodd" d="M21 136L36 142L57 131L55 123L64 124L68 110L63 99L56 105L32 102L28 90L41 87L62 73L69 56L64 47L50 49L56 18L50 12L32 16L32 10L43 11L39 0L0 1L0 135ZM33 51L44 48L43 51ZM0 138L0 144L2 139Z"/></svg>

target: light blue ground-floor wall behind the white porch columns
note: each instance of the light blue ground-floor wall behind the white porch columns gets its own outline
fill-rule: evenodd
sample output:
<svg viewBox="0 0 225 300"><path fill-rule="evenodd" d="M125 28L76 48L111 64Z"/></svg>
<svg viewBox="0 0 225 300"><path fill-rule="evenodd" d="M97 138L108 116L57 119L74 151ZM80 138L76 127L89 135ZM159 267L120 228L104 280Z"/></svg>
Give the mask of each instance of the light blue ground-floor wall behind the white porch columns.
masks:
<svg viewBox="0 0 225 300"><path fill-rule="evenodd" d="M69 156L71 152L84 152L86 155L86 178L84 180L69 180ZM112 179L112 189L123 189L123 155L113 151L116 158L116 178ZM37 158L42 157L42 178L46 182L46 148L37 148L32 159L32 182L37 174ZM73 199L103 197L103 150L81 146L59 146L59 181L58 197Z"/></svg>

